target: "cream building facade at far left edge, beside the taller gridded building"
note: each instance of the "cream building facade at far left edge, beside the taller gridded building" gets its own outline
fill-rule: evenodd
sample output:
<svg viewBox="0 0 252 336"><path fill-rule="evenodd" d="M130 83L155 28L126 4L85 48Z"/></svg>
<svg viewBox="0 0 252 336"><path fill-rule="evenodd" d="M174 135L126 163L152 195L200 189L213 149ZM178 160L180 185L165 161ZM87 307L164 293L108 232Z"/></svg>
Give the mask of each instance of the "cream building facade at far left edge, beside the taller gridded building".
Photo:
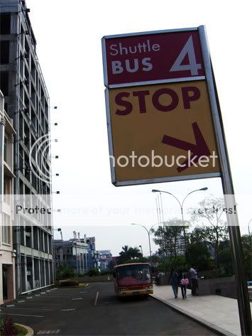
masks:
<svg viewBox="0 0 252 336"><path fill-rule="evenodd" d="M13 122L4 111L4 95L0 91L0 304L16 298L12 232L14 135Z"/></svg>

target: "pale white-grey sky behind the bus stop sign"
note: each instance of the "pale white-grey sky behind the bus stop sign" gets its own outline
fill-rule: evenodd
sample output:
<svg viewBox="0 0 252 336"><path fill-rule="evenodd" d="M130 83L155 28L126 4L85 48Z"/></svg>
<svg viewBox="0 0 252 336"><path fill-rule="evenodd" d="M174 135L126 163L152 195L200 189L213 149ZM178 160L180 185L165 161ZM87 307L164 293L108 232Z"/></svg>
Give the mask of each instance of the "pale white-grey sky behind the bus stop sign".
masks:
<svg viewBox="0 0 252 336"><path fill-rule="evenodd" d="M63 237L72 231L97 237L97 249L114 255L125 244L148 251L146 232L131 222L157 222L153 185L116 188L111 185L102 70L101 38L104 35L207 26L217 80L226 141L239 205L243 233L251 215L251 40L248 1L65 1L27 0L38 41L37 53L48 86L52 109L53 190L55 227ZM155 4L155 6L153 6ZM205 195L221 195L218 179L163 183L155 188L182 198L195 193L185 207L193 207ZM163 195L165 218L179 217L178 206ZM80 213L72 209L80 208ZM71 212L71 211L72 212ZM76 212L76 211L75 211ZM185 215L185 217L187 217ZM69 224L69 226L67 226ZM57 236L56 236L57 237ZM153 244L153 251L155 246Z"/></svg>

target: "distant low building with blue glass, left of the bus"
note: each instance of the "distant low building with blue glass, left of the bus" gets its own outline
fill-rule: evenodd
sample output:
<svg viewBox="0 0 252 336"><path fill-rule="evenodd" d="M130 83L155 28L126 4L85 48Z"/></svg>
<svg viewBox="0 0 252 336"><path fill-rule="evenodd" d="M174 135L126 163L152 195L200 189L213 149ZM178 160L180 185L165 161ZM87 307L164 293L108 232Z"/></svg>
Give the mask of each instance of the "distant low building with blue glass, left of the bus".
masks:
<svg viewBox="0 0 252 336"><path fill-rule="evenodd" d="M54 240L53 246L56 270L62 264L71 266L75 273L81 274L97 268L98 252L95 250L95 237Z"/></svg>

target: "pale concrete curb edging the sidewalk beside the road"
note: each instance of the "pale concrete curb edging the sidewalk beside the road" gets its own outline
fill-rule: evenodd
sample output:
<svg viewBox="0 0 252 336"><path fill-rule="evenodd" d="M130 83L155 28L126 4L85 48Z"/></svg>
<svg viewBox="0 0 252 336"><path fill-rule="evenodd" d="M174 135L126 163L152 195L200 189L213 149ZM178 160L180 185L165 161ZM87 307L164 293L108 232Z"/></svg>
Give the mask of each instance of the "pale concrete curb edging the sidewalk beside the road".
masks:
<svg viewBox="0 0 252 336"><path fill-rule="evenodd" d="M178 308L176 305L172 305L172 303L168 303L168 301L163 300L162 298L158 298L157 296L153 296L153 294L150 295L151 298L154 298L155 300L158 300L162 303L164 303L165 305L168 305L170 308L172 308L173 310L177 311L177 313L180 313L184 316L187 316L187 318L190 318L191 320L196 321L197 323L199 323L200 325L203 325L204 327L207 327L209 330L212 330L214 332L217 332L219 335L224 335L224 336L237 336L235 334L233 334L232 332L229 332L225 329L222 329L221 327L217 327L217 325L214 325L211 322L208 322L206 320L204 320L203 318L199 318L196 315L192 314L192 313L188 313L186 310Z"/></svg>

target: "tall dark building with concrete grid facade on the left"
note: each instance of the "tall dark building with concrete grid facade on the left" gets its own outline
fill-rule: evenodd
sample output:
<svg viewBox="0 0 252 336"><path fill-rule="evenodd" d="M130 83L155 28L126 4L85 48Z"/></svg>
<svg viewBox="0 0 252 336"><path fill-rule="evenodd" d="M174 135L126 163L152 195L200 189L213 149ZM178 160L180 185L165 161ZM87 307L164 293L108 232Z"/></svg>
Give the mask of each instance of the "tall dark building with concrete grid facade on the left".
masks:
<svg viewBox="0 0 252 336"><path fill-rule="evenodd" d="M6 114L13 119L16 131L13 193L19 195L23 205L35 207L39 202L50 207L50 105L29 9L23 0L0 0L0 4L0 89ZM42 139L49 141L49 146ZM40 145L45 158L36 156ZM54 273L50 216L18 213L14 224L17 295L50 286Z"/></svg>

